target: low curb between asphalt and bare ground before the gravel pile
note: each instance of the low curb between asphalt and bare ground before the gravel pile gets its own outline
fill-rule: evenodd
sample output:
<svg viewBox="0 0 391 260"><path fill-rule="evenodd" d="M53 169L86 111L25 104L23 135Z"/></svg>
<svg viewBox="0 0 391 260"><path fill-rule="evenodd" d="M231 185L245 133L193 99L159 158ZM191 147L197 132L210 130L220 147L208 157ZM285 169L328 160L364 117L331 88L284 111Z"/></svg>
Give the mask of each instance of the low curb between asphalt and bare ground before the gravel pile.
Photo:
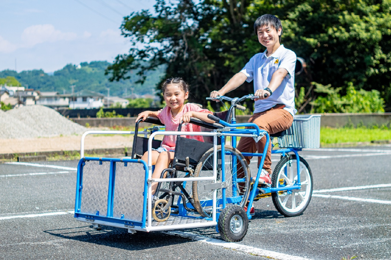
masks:
<svg viewBox="0 0 391 260"><path fill-rule="evenodd" d="M128 152L129 152L129 149L128 149ZM125 152L124 148L100 148L100 149L84 150L84 154L122 154L123 156L127 156L128 152ZM47 152L18 152L18 153L0 154L0 160L18 159L21 161L26 161L26 160L30 160L33 158L36 158L36 159L39 158L40 160L45 161L46 157L76 156L78 154L80 154L80 150L77 150L77 151L47 151Z"/></svg>

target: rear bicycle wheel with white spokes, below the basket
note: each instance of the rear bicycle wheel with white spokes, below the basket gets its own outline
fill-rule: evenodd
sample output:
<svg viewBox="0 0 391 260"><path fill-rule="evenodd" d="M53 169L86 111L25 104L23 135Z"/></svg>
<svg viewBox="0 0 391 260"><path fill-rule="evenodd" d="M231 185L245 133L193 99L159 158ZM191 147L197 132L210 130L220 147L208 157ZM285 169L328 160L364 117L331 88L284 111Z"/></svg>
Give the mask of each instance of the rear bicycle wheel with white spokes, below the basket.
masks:
<svg viewBox="0 0 391 260"><path fill-rule="evenodd" d="M298 181L297 159L295 154L284 156L276 165L272 176L272 187L289 187ZM299 156L300 190L273 192L274 206L285 217L303 214L312 196L312 172L307 161Z"/></svg>

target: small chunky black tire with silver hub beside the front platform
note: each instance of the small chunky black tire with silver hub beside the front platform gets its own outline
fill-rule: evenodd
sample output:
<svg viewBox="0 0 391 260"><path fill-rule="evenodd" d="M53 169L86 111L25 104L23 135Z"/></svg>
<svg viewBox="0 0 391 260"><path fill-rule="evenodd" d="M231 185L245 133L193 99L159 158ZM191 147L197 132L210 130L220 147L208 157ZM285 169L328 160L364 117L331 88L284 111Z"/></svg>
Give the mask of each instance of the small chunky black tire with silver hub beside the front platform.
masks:
<svg viewBox="0 0 391 260"><path fill-rule="evenodd" d="M238 205L230 205L221 211L219 233L227 242L241 241L247 233L248 217L244 209Z"/></svg>

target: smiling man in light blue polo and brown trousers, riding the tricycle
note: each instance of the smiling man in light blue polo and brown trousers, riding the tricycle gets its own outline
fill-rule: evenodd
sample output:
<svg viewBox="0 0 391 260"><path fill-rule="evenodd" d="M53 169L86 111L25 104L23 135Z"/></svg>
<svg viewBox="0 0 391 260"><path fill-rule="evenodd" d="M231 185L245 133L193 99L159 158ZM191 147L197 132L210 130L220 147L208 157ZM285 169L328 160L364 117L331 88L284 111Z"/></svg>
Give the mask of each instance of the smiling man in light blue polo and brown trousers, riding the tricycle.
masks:
<svg viewBox="0 0 391 260"><path fill-rule="evenodd" d="M210 97L225 95L238 88L244 81L254 82L255 110L248 122L257 124L269 134L288 129L293 122L294 70L296 54L280 44L282 25L280 19L271 14L260 16L254 23L258 41L266 47L263 53L255 54L244 68L235 74L219 91L212 91ZM262 153L266 138L257 143L251 137L242 137L237 149L240 152ZM251 157L246 157L250 163ZM258 157L258 167L261 157ZM259 183L271 184L271 143L267 149ZM254 179L254 178L253 178ZM250 213L254 212L251 208Z"/></svg>

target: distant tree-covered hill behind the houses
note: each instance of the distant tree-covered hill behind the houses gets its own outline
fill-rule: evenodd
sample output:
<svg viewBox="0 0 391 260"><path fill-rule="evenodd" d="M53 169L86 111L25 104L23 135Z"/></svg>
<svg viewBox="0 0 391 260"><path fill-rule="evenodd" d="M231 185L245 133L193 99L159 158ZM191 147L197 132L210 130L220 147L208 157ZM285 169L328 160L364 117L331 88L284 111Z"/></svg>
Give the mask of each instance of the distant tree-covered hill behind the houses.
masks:
<svg viewBox="0 0 391 260"><path fill-rule="evenodd" d="M156 92L156 84L164 76L164 68L147 72L147 79L144 84L135 84L140 79L136 71L132 71L128 80L109 82L109 75L104 75L104 70L110 65L107 61L92 61L80 65L68 64L61 70L47 74L43 70L25 70L20 73L14 70L3 70L0 78L7 76L15 77L22 86L34 88L39 91L58 91L59 93L71 93L71 85L75 85L74 91L93 90L107 95L107 88L110 88L111 96L122 97L130 95L131 92L139 95L152 94ZM132 89L133 88L133 89Z"/></svg>

